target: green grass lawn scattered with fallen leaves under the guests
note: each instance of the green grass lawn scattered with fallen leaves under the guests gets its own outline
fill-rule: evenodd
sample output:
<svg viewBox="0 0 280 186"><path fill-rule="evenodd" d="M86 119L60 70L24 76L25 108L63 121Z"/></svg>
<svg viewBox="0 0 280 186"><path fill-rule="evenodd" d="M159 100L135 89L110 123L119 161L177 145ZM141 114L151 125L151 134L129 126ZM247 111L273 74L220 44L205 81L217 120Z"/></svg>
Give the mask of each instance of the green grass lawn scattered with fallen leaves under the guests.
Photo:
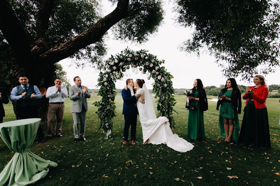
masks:
<svg viewBox="0 0 280 186"><path fill-rule="evenodd" d="M215 98L209 96L209 98ZM99 96L88 99L86 142L73 143L71 101L66 99L63 138L40 143L35 139L29 148L38 156L58 163L36 185L279 185L280 177L280 104L268 98L268 119L271 149L252 149L241 144L226 144L219 135L217 102L208 101L204 112L206 139L193 141L186 136L188 111L185 96L175 96L176 126L173 133L194 144L194 149L179 153L166 145L142 144L141 124L137 123L137 143L122 144L124 118L123 100L116 97L117 118L109 139L99 129L99 121L91 105ZM245 106L243 102L242 109ZM12 104L4 105L4 121L15 120ZM240 126L243 112L239 115ZM46 131L46 124L43 124ZM0 140L0 171L14 155ZM231 170L227 170L231 168ZM237 176L238 178L228 178ZM201 179L199 179L202 177ZM178 178L178 179L177 179ZM178 180L178 181L177 181Z"/></svg>

